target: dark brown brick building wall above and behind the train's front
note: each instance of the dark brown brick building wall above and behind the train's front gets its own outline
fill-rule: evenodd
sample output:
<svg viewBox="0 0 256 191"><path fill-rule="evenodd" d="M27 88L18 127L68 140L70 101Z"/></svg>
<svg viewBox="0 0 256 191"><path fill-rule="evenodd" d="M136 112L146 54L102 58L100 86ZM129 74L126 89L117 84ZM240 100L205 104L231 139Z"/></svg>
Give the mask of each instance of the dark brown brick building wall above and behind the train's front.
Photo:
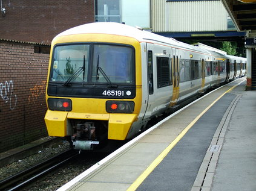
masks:
<svg viewBox="0 0 256 191"><path fill-rule="evenodd" d="M0 39L50 44L54 36L94 22L94 0L2 0Z"/></svg>

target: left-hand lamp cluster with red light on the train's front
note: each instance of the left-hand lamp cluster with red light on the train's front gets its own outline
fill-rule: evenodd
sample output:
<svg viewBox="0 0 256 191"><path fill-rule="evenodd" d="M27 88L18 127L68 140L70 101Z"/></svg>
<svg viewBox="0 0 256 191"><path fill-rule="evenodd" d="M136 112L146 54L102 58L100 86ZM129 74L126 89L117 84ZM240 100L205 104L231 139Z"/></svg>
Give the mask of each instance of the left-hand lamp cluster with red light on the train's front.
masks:
<svg viewBox="0 0 256 191"><path fill-rule="evenodd" d="M71 99L48 98L48 107L53 111L71 111L72 102Z"/></svg>

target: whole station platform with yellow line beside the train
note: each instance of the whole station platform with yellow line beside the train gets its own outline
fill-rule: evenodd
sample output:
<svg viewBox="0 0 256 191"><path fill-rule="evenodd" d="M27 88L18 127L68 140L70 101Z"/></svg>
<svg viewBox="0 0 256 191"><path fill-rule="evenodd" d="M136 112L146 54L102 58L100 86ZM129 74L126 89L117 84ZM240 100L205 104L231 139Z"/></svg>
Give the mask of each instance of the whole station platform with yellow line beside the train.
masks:
<svg viewBox="0 0 256 191"><path fill-rule="evenodd" d="M256 190L256 92L245 83L171 114L58 190Z"/></svg>

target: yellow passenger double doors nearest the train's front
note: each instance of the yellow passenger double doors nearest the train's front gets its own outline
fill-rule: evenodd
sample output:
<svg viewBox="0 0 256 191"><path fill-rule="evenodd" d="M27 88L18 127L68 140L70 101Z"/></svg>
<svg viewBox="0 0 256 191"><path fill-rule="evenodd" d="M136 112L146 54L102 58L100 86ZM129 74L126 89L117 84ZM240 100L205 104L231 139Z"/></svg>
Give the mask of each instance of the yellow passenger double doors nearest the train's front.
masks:
<svg viewBox="0 0 256 191"><path fill-rule="evenodd" d="M179 98L179 92L180 92L180 59L179 59L179 49L172 48L172 58L171 58L171 67L172 67L172 99L170 106L176 105L178 98Z"/></svg>

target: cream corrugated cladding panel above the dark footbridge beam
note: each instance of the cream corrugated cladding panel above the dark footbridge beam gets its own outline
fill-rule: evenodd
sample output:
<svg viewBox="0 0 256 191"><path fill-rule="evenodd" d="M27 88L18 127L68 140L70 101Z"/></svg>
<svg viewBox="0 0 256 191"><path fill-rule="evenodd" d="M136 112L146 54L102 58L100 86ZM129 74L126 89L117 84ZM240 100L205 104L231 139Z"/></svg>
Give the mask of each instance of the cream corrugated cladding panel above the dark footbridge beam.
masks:
<svg viewBox="0 0 256 191"><path fill-rule="evenodd" d="M153 32L227 31L228 12L221 1L151 1Z"/></svg>

